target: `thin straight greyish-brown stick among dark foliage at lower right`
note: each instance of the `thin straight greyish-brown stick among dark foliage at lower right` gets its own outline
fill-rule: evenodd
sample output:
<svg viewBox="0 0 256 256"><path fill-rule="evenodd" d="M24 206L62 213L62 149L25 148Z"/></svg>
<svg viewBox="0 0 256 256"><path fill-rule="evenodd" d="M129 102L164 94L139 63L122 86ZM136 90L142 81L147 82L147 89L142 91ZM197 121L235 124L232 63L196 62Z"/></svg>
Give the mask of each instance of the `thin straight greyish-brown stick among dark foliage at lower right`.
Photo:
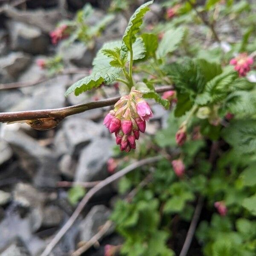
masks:
<svg viewBox="0 0 256 256"><path fill-rule="evenodd" d="M200 196L198 198L198 203L195 207L195 212L194 212L192 221L190 223L189 230L188 230L188 233L186 235L185 242L184 242L182 250L180 252L180 256L186 256L186 254L188 253L190 244L192 242L192 239L193 239L193 236L194 236L194 233L195 233L195 228L198 224L198 220L199 220L199 217L200 217L200 214L201 214L201 210L203 208L203 204L204 204L204 197Z"/></svg>

